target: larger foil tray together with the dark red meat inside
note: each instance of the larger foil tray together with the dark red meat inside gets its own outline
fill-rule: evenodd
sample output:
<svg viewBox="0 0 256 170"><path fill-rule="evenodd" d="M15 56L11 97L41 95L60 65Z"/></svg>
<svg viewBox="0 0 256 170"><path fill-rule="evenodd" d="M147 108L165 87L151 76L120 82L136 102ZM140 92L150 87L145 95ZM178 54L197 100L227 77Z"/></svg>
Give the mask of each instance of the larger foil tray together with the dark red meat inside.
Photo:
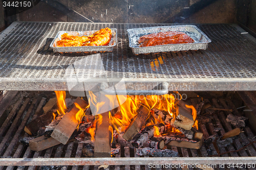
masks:
<svg viewBox="0 0 256 170"><path fill-rule="evenodd" d="M128 29L127 32L129 34L129 46L135 55L206 50L208 43L211 42L194 25L137 28Z"/></svg>

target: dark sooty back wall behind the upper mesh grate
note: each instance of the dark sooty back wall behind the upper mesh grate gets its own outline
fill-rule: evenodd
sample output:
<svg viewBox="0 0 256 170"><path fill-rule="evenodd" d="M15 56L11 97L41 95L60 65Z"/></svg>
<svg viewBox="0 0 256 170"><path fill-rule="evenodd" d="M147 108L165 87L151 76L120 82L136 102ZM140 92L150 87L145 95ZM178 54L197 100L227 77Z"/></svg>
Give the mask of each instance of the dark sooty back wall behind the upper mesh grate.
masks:
<svg viewBox="0 0 256 170"><path fill-rule="evenodd" d="M0 31L13 21L116 23L239 23L256 32L256 0L30 0L32 8L3 8Z"/></svg>

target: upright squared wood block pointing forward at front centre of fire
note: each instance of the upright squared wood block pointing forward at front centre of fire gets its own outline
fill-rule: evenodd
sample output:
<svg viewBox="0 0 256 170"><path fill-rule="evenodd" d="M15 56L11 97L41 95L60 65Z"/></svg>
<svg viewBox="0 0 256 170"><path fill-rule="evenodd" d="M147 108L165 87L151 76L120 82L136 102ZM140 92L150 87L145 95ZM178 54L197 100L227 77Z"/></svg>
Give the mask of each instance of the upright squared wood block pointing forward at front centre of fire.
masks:
<svg viewBox="0 0 256 170"><path fill-rule="evenodd" d="M102 123L97 122L95 134L95 157L111 157L111 133L109 112L102 113Z"/></svg>

